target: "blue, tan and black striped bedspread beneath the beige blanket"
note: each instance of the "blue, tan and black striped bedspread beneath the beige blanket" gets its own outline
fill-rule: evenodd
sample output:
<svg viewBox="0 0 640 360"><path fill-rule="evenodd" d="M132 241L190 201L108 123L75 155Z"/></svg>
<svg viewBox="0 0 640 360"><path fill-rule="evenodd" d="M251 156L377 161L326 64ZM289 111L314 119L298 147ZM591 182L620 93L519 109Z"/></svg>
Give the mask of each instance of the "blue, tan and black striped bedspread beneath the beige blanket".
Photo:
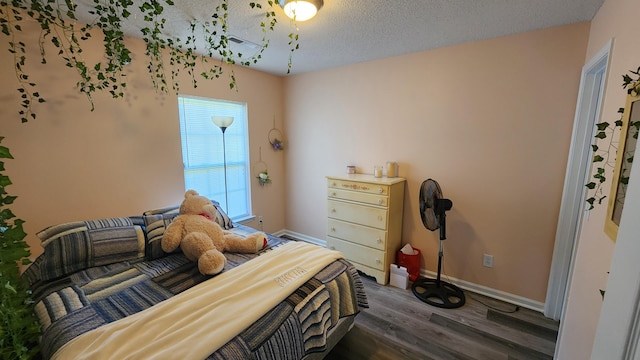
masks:
<svg viewBox="0 0 640 360"><path fill-rule="evenodd" d="M251 230L239 227L232 231ZM288 242L268 237L267 248L258 254L225 254L225 271ZM34 284L36 314L43 327L43 358L49 359L85 332L148 309L210 278L177 253L92 267ZM325 349L327 331L338 319L355 315L367 306L357 271L349 262L338 259L208 358L301 359Z"/></svg>

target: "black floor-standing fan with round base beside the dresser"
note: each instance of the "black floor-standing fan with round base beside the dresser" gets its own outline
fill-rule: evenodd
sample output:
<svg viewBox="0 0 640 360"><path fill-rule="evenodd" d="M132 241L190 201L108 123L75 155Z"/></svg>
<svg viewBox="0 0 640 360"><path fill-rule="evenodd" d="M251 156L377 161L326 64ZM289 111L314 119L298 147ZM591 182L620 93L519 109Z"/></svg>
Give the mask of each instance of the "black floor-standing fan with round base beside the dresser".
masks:
<svg viewBox="0 0 640 360"><path fill-rule="evenodd" d="M442 281L442 242L447 238L446 212L453 202L442 196L440 185L433 179L425 180L420 187L420 217L424 226L431 231L440 229L440 251L438 252L438 274L436 279L416 280L411 290L425 303L441 308L453 309L464 305L464 293L457 286Z"/></svg>

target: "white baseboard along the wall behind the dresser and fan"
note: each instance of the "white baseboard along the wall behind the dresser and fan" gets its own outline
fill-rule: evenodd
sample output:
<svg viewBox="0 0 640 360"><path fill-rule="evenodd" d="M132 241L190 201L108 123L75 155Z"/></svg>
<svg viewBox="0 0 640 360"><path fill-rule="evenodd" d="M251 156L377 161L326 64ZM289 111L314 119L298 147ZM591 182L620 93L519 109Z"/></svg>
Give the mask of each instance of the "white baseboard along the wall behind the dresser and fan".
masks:
<svg viewBox="0 0 640 360"><path fill-rule="evenodd" d="M301 234L301 233L297 233L295 231L291 231L291 230L287 230L287 229L282 229L278 232L273 233L274 235L277 236L282 236L282 235L288 235L291 236L292 238L296 238L302 241L306 241L308 243L312 243L315 245L320 245L320 246L327 246L327 242L325 240L321 240L318 238L314 238L312 236L309 235L305 235L305 234ZM433 271L427 271L425 269L420 269L420 275L424 276L424 277L428 277L428 278L432 278L435 279L437 274ZM468 281L464 281L464 280L459 280L456 278L452 278L450 276L447 276L446 279L443 279L444 281L450 282L464 290L469 290L469 291L473 291L476 294L480 294L480 295L484 295L484 296L488 296L490 298L496 299L496 300L501 300L501 301L505 301L508 302L510 304L514 304L514 305L518 305L518 306L522 306L524 308L527 309L531 309L534 311L538 311L538 312L544 312L544 303L540 302L540 301L535 301L535 300L531 300L519 295L514 295L514 294L510 294L508 292L504 292L504 291L500 291L500 290L496 290L496 289L492 289L490 287L486 287L484 285L478 285L478 284L474 284Z"/></svg>

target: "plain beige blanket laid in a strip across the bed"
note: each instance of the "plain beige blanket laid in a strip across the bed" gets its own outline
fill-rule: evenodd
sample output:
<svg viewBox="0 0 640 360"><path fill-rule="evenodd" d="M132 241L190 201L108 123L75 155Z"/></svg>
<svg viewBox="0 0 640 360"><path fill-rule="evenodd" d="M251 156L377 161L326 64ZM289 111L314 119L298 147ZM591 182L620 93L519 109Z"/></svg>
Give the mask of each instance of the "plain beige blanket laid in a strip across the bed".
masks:
<svg viewBox="0 0 640 360"><path fill-rule="evenodd" d="M341 257L319 246L287 243L78 336L53 359L204 359Z"/></svg>

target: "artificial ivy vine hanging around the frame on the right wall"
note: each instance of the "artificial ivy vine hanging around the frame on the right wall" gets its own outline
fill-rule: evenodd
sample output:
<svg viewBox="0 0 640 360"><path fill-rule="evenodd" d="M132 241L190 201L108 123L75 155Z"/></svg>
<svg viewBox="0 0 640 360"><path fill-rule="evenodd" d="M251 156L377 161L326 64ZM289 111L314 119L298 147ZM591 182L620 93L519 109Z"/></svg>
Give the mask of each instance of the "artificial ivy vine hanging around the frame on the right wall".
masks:
<svg viewBox="0 0 640 360"><path fill-rule="evenodd" d="M630 75L629 75L630 74ZM629 74L622 76L622 88L627 90L627 94L637 96L640 94L640 67L637 70L629 70ZM595 207L595 204L602 204L602 201L607 197L602 193L602 185L607 181L606 168L615 168L615 157L618 153L618 143L614 142L613 134L617 129L622 127L622 117L624 115L624 108L618 109L620 118L616 120L613 125L603 121L596 124L596 135L594 136L595 143L591 145L593 150L593 163L596 164L595 173L592 175L593 180L587 183L585 186L591 195L587 198L589 204L589 210ZM638 132L640 130L640 121L629 124L630 134L634 139L638 138ZM598 144L601 141L608 139L608 143L604 147L600 147ZM632 162L633 158L627 159ZM621 174L620 182L627 184L629 182L628 175Z"/></svg>

